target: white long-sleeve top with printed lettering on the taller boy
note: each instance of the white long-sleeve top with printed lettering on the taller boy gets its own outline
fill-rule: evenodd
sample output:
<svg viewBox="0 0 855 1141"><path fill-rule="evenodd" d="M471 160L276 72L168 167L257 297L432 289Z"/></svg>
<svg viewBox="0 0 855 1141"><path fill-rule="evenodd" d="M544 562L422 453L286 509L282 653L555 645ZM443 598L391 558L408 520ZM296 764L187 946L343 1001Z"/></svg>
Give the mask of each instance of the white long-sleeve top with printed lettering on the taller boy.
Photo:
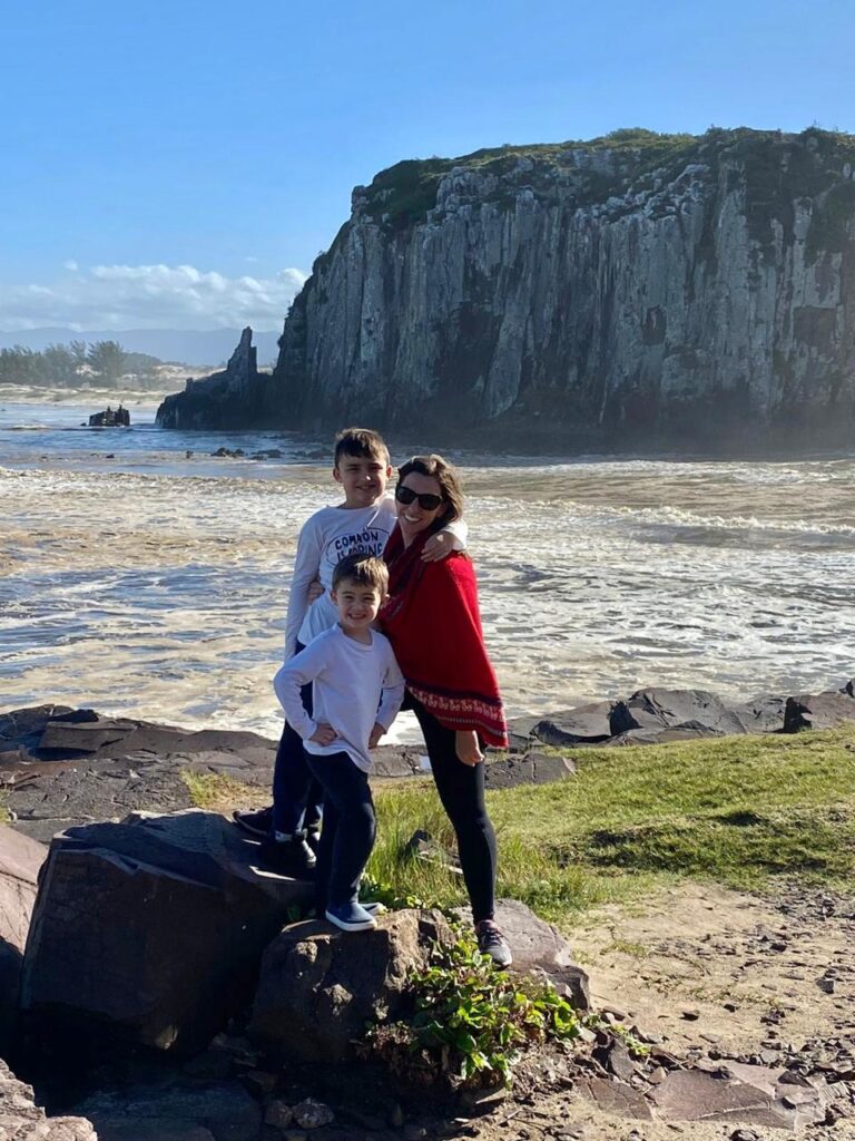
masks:
<svg viewBox="0 0 855 1141"><path fill-rule="evenodd" d="M294 653L298 641L308 646L337 622L339 612L329 597L337 564L348 555L382 555L396 518L394 500L386 495L372 507L325 507L306 520L296 544L288 594L286 659ZM455 550L465 550L469 527L463 519L445 529L454 535ZM309 586L316 578L320 580L324 593L309 605Z"/></svg>

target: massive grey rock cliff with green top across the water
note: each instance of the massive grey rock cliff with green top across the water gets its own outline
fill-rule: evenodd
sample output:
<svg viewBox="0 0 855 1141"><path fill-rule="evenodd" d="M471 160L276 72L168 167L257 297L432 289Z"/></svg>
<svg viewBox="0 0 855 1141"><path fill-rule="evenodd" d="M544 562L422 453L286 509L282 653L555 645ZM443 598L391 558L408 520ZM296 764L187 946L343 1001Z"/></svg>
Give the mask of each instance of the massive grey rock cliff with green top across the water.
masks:
<svg viewBox="0 0 855 1141"><path fill-rule="evenodd" d="M355 189L236 421L846 438L854 169L815 129L399 163Z"/></svg>

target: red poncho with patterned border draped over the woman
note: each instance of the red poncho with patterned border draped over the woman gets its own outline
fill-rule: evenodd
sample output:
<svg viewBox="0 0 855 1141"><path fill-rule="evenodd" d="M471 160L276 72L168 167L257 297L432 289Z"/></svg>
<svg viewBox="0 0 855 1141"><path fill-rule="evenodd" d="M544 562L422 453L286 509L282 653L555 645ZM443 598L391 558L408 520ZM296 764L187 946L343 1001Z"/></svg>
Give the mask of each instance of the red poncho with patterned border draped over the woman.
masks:
<svg viewBox="0 0 855 1141"><path fill-rule="evenodd" d="M500 748L507 745L507 727L483 645L475 572L467 556L457 552L423 563L422 549L432 533L422 532L407 548L400 527L389 536L383 631L416 701L447 729L474 729Z"/></svg>

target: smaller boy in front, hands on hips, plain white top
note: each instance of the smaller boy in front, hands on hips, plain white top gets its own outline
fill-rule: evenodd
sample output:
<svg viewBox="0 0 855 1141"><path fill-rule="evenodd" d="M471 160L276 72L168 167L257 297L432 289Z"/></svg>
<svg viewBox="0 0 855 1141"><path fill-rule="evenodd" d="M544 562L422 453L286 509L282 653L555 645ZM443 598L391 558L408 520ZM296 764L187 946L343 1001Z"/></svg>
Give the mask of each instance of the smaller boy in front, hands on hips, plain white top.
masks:
<svg viewBox="0 0 855 1141"><path fill-rule="evenodd" d="M404 698L404 678L389 640L372 623L385 598L382 559L349 555L333 572L337 622L300 650L274 679L288 725L324 791L324 831L317 856L318 915L342 931L367 931L376 920L359 904L359 880L374 847L369 748L386 733ZM303 686L311 683L314 713Z"/></svg>

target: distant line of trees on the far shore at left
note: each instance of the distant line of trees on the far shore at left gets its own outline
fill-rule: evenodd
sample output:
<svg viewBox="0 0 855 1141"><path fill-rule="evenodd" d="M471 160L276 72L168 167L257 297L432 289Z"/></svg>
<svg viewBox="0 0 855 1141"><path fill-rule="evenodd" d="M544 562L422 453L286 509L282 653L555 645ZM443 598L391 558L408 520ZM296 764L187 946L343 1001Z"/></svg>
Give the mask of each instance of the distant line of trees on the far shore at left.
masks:
<svg viewBox="0 0 855 1141"><path fill-rule="evenodd" d="M162 362L147 353L128 353L119 341L70 341L49 345L40 353L16 345L0 349L0 385L33 388L80 388L95 385L111 388L129 373L153 377Z"/></svg>

